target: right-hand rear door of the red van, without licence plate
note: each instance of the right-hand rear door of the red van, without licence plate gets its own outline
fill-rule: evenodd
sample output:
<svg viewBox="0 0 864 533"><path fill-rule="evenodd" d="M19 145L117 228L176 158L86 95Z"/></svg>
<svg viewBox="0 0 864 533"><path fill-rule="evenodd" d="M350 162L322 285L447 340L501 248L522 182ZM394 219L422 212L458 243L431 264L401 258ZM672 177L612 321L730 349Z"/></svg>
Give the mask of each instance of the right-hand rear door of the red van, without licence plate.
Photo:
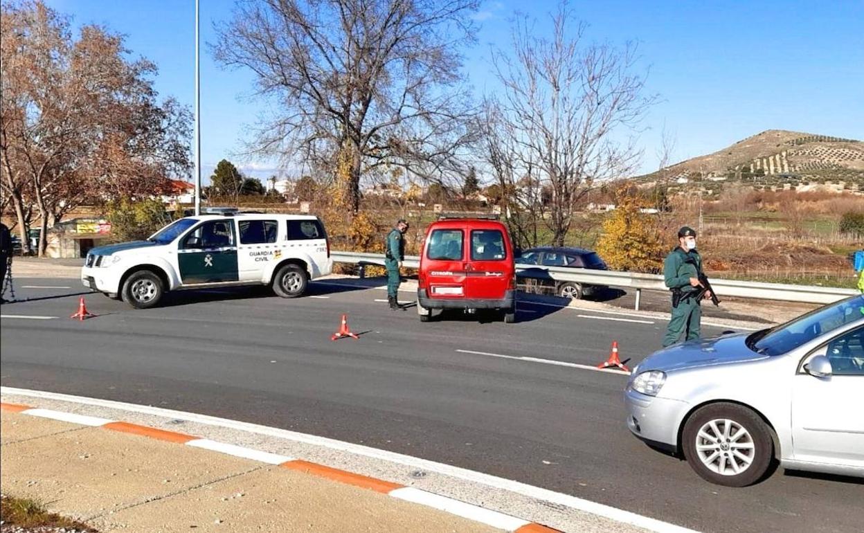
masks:
<svg viewBox="0 0 864 533"><path fill-rule="evenodd" d="M468 238L467 298L504 298L513 275L513 257L504 231L478 228L471 230Z"/></svg>

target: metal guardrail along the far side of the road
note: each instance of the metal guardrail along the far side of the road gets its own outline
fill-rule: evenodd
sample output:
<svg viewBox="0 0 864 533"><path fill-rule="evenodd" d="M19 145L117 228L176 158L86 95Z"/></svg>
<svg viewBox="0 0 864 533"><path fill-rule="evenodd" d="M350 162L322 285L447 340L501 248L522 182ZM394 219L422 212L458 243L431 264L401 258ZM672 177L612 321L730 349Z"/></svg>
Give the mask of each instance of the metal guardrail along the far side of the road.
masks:
<svg viewBox="0 0 864 533"><path fill-rule="evenodd" d="M359 253L353 251L334 251L331 253L335 263L350 263L360 266L360 276L365 274L365 266L384 266L384 254ZM406 256L404 266L420 268L420 257ZM606 285L616 289L636 290L636 309L639 308L641 291L668 290L663 276L618 272L615 270L569 269L547 266L516 266L518 277L531 279L550 279L556 282L576 282L588 285ZM795 301L799 303L831 303L848 296L859 294L854 289L814 287L810 285L789 285L785 283L745 282L711 278L711 285L718 296L754 298L759 300Z"/></svg>

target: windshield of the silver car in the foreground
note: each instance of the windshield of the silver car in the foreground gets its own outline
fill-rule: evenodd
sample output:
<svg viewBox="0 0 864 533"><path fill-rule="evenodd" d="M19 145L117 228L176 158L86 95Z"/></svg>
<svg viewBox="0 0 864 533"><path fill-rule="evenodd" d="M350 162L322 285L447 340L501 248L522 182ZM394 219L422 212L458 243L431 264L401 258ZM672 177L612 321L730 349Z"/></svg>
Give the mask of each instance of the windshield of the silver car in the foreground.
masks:
<svg viewBox="0 0 864 533"><path fill-rule="evenodd" d="M864 295L853 296L818 308L778 327L762 330L747 338L753 352L783 355L820 335L864 318Z"/></svg>

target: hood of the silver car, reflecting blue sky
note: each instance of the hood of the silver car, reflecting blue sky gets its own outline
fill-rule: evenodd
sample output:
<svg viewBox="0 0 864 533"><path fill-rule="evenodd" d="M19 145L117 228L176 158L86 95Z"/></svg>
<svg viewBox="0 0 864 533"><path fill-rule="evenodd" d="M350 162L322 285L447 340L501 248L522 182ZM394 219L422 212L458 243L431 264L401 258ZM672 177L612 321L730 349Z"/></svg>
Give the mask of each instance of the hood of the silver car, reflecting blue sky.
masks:
<svg viewBox="0 0 864 533"><path fill-rule="evenodd" d="M680 371L688 368L730 365L745 361L767 359L746 346L749 333L732 333L714 339L690 340L654 352L638 364L636 373L658 370Z"/></svg>

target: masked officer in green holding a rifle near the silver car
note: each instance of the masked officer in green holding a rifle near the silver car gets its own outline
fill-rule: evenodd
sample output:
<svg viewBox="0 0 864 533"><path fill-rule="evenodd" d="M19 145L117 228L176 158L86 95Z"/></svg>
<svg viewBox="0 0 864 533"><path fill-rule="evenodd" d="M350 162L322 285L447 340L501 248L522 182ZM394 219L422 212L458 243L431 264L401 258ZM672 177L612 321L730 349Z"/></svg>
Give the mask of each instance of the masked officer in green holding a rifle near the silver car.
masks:
<svg viewBox="0 0 864 533"><path fill-rule="evenodd" d="M666 287L672 291L672 318L663 338L663 346L671 346L686 333L685 340L699 339L702 320L702 298L696 297L702 290L699 273L702 272L702 257L696 251L696 232L686 225L678 230L678 246L666 256L663 276ZM711 293L706 290L705 298Z"/></svg>

